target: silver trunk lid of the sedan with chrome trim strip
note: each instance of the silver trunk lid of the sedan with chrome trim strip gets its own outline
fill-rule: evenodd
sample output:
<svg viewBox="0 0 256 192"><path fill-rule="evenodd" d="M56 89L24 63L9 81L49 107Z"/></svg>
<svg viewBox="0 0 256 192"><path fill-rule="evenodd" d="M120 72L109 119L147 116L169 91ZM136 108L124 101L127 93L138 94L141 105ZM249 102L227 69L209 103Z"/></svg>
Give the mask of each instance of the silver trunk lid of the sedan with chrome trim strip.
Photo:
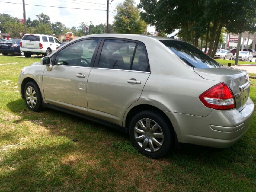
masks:
<svg viewBox="0 0 256 192"><path fill-rule="evenodd" d="M194 71L204 79L227 84L234 94L236 109L241 111L244 108L250 92L248 72L226 66L206 69L194 68Z"/></svg>

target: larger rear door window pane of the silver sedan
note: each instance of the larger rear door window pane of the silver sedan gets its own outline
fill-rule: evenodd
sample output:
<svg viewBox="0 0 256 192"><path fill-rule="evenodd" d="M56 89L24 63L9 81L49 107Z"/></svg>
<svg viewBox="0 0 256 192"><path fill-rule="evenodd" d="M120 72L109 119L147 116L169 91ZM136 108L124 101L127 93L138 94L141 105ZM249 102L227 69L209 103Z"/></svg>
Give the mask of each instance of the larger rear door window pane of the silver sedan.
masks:
<svg viewBox="0 0 256 192"><path fill-rule="evenodd" d="M98 67L130 70L135 46L135 42L105 40Z"/></svg>

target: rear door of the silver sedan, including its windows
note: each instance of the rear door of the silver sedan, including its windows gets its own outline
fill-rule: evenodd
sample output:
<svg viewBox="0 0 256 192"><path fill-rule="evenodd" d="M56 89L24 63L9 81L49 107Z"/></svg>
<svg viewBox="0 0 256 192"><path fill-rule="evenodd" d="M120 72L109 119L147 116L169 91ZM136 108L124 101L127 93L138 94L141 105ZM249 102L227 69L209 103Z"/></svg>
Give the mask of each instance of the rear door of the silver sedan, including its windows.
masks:
<svg viewBox="0 0 256 192"><path fill-rule="evenodd" d="M88 113L122 126L126 109L140 98L150 76L146 48L136 41L105 39L100 50L88 78Z"/></svg>

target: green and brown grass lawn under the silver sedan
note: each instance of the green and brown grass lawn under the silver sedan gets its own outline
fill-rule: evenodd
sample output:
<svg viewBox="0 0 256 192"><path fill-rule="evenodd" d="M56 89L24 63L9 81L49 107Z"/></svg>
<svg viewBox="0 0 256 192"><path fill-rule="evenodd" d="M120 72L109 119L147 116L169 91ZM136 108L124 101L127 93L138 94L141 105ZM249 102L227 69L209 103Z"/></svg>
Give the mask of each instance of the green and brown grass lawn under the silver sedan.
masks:
<svg viewBox="0 0 256 192"><path fill-rule="evenodd" d="M134 150L128 134L56 110L28 110L17 78L38 61L0 55L0 192L256 191L255 114L228 149L183 148L153 160Z"/></svg>

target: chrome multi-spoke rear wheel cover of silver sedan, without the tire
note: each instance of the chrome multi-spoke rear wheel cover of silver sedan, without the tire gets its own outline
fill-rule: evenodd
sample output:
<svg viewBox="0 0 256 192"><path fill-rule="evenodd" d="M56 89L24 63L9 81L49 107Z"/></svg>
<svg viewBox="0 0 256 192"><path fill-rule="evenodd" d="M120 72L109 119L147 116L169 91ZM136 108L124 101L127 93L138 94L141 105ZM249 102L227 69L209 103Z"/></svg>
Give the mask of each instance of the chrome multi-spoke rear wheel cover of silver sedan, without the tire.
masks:
<svg viewBox="0 0 256 192"><path fill-rule="evenodd" d="M160 126L152 119L139 120L134 127L134 138L138 145L147 152L158 151L164 142Z"/></svg>

